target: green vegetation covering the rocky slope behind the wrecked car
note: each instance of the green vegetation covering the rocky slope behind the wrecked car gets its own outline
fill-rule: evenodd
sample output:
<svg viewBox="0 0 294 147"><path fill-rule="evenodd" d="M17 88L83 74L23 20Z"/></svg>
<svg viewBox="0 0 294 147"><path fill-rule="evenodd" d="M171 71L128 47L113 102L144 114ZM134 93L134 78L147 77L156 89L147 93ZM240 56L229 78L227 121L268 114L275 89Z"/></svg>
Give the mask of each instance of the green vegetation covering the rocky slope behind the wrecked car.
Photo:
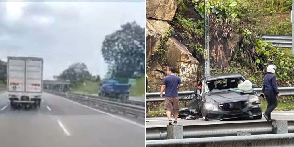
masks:
<svg viewBox="0 0 294 147"><path fill-rule="evenodd" d="M203 34L197 34L196 31L203 29L205 9L203 2L203 0L178 1L178 11L171 23L175 28L172 35L186 44L200 62L203 62L202 49L197 50L195 46L188 44L199 43L203 37ZM256 38L256 34L260 32L283 35L292 33L289 19L292 1L209 0L208 2L210 30L213 31L211 35L218 37L222 35L225 38L236 32L242 35L240 48L235 51L230 67L219 69L213 66L212 74L240 72L261 86L266 66L275 64L278 67L276 72L278 85L294 84L293 56L288 54L288 51L285 52L285 49L275 48L270 43Z"/></svg>

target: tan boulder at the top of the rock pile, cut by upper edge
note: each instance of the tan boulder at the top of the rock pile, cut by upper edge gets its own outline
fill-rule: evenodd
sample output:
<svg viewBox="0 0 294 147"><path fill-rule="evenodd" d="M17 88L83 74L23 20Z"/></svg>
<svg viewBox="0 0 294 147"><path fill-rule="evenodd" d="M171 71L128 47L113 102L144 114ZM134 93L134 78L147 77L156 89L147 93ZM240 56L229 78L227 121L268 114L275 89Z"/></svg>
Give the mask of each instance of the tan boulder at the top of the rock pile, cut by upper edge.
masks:
<svg viewBox="0 0 294 147"><path fill-rule="evenodd" d="M147 0L146 16L147 18L172 21L177 6L176 0Z"/></svg>

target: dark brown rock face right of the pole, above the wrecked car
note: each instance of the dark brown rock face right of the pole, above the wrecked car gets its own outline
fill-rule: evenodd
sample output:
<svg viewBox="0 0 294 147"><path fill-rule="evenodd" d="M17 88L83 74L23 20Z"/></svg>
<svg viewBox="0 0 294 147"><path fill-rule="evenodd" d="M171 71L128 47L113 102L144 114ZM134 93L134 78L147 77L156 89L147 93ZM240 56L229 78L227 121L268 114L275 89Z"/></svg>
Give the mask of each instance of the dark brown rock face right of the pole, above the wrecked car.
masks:
<svg viewBox="0 0 294 147"><path fill-rule="evenodd" d="M229 63L236 51L239 49L240 36L234 34L232 37L212 37L209 42L211 62L214 63L218 69L229 67Z"/></svg>

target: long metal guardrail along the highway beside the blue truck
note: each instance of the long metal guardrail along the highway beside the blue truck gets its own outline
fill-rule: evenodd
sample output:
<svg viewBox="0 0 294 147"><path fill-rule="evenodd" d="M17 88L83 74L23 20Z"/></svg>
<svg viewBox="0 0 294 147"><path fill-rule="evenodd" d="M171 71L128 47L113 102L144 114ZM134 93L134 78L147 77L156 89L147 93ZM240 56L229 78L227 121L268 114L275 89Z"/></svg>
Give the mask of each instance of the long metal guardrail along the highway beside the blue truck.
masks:
<svg viewBox="0 0 294 147"><path fill-rule="evenodd" d="M145 118L145 107L134 106L126 103L118 103L108 100L96 99L87 96L76 95L72 93L63 93L56 91L45 91L51 94L62 96L79 103L85 104L92 108L103 108L108 112L122 113L123 115L136 116L137 118Z"/></svg>

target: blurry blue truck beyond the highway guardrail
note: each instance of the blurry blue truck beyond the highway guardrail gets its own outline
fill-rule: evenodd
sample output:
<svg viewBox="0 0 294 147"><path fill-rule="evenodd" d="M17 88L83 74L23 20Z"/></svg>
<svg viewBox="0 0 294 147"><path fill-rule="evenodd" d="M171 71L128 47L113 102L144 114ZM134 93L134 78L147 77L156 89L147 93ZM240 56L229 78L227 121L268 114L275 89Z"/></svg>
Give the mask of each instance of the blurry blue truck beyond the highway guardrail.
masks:
<svg viewBox="0 0 294 147"><path fill-rule="evenodd" d="M128 79L109 78L100 83L99 96L126 103L129 99L130 89L131 84L129 84Z"/></svg>

